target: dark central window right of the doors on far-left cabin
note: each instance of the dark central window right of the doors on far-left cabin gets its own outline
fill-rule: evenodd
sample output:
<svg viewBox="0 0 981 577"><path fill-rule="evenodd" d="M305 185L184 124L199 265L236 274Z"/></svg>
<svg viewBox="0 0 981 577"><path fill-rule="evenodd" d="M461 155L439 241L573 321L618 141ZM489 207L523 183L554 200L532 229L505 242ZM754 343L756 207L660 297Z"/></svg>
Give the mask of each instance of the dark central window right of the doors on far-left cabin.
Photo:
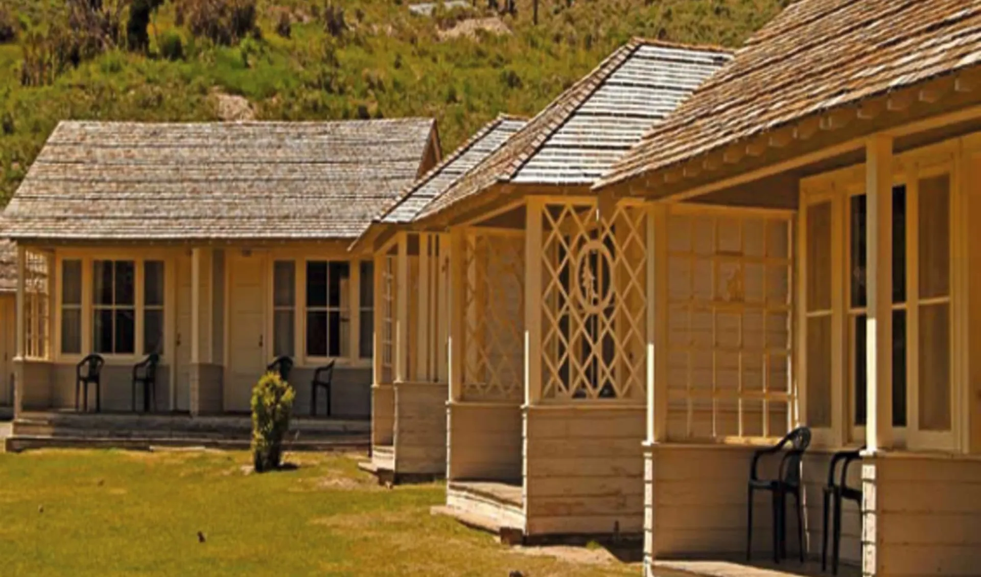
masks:
<svg viewBox="0 0 981 577"><path fill-rule="evenodd" d="M349 277L350 265L347 262L307 262L307 356L348 356Z"/></svg>

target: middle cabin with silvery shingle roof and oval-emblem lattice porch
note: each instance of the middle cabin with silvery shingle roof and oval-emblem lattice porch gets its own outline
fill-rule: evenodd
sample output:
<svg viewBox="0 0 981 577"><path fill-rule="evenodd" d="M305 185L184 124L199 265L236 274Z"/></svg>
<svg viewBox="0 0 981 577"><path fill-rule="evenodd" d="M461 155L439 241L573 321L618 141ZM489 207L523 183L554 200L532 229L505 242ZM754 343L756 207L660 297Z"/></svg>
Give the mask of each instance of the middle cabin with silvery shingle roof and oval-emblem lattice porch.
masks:
<svg viewBox="0 0 981 577"><path fill-rule="evenodd" d="M445 512L641 535L647 209L597 222L591 185L729 58L628 43L416 217L449 244Z"/></svg>

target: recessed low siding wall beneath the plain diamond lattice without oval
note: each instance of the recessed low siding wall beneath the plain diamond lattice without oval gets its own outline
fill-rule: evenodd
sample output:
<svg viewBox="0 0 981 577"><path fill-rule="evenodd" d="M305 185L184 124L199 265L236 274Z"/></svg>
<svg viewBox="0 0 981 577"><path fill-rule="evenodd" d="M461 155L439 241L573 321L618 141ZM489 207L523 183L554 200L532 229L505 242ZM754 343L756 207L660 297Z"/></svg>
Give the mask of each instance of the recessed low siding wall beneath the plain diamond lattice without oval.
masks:
<svg viewBox="0 0 981 577"><path fill-rule="evenodd" d="M522 417L517 403L452 403L448 408L448 427L448 479L521 479Z"/></svg>

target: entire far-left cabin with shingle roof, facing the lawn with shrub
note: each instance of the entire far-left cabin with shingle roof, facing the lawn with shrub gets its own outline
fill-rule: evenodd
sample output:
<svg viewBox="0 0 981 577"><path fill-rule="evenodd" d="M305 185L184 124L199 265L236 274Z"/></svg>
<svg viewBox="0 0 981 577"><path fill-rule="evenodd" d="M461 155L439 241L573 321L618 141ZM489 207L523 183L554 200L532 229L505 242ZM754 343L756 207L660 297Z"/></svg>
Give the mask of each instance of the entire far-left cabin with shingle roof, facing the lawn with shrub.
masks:
<svg viewBox="0 0 981 577"><path fill-rule="evenodd" d="M132 366L156 352L158 412L247 413L288 355L296 415L312 413L313 372L334 361L331 417L367 419L374 263L348 248L438 161L427 119L61 123L5 211L28 273L18 414L75 410L89 353L106 361L102 410L142 410Z"/></svg>

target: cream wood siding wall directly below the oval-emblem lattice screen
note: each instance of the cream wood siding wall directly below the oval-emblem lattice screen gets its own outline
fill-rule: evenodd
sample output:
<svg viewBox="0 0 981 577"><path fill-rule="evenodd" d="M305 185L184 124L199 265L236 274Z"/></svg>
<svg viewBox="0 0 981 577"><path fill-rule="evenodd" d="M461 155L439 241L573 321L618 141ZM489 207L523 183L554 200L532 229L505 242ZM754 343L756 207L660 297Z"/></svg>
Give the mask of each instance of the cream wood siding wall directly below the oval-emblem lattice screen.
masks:
<svg viewBox="0 0 981 577"><path fill-rule="evenodd" d="M644 407L531 407L524 421L528 535L641 534Z"/></svg>

